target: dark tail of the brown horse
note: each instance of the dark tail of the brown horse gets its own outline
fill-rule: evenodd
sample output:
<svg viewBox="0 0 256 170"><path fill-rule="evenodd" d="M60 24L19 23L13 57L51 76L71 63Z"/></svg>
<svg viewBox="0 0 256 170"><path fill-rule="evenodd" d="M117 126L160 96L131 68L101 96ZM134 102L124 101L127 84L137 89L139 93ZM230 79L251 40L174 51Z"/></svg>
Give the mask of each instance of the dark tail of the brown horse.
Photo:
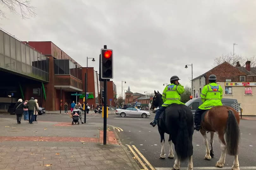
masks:
<svg viewBox="0 0 256 170"><path fill-rule="evenodd" d="M226 128L227 152L229 155L237 155L240 140L240 130L234 112L229 109L228 113L229 117Z"/></svg>

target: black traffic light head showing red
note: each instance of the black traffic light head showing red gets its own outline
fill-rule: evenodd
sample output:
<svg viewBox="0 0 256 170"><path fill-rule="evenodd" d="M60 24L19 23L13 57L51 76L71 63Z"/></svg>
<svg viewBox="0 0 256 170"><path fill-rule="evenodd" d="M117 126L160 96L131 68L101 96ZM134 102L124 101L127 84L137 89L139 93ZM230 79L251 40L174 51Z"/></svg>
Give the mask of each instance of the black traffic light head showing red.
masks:
<svg viewBox="0 0 256 170"><path fill-rule="evenodd" d="M101 79L113 79L113 50L101 49Z"/></svg>

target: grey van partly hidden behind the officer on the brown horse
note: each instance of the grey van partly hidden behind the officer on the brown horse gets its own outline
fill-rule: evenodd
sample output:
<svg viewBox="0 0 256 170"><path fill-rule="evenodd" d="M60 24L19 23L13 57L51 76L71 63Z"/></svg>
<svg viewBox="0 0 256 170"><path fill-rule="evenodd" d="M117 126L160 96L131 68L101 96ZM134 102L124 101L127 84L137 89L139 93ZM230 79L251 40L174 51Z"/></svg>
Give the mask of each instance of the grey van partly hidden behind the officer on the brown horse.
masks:
<svg viewBox="0 0 256 170"><path fill-rule="evenodd" d="M230 106L234 108L236 111L240 111L240 103L237 103L237 99L227 99L227 98L222 98L221 99L222 105L223 106ZM193 115L196 112L196 109L202 104L203 102L201 101L201 98L193 98L192 100L189 100L185 105L190 108L192 111Z"/></svg>

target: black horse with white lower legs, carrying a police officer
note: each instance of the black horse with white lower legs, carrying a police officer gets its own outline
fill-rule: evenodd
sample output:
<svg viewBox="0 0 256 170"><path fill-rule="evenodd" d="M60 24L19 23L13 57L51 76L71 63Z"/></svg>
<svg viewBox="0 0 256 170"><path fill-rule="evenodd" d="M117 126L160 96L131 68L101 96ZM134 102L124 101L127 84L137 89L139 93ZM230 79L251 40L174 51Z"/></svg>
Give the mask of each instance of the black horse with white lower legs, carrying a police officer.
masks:
<svg viewBox="0 0 256 170"><path fill-rule="evenodd" d="M160 107L163 104L162 95L155 91L151 109ZM165 109L165 112L160 116L158 123L158 132L161 137L161 154L160 159L164 159L164 133L169 134L170 153L168 158L173 158L172 142L176 152L175 164L173 170L180 169L180 161L189 158L188 168L193 169L192 155L192 135L194 132L194 119L191 110L184 104L172 104Z"/></svg>

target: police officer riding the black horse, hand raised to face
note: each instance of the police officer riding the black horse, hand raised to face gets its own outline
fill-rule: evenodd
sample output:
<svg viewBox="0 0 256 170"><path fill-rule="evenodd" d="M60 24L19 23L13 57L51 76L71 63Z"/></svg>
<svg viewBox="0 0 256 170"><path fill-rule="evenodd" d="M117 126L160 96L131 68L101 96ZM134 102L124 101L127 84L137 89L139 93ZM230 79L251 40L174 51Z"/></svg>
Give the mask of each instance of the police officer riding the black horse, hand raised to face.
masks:
<svg viewBox="0 0 256 170"><path fill-rule="evenodd" d="M160 114L165 110L165 108L173 103L184 104L180 102L180 94L182 94L185 90L182 85L179 83L178 76L172 76L170 79L171 84L167 85L162 93L163 104L156 111L155 119L150 122L150 125L155 127L157 121L159 119Z"/></svg>

